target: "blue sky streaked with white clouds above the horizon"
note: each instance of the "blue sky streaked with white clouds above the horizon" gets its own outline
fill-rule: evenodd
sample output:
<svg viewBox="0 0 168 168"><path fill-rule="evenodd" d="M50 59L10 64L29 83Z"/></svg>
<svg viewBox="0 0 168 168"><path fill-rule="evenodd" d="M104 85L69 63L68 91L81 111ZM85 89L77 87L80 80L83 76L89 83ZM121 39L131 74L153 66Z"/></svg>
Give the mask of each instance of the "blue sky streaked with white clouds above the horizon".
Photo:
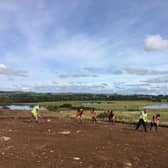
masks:
<svg viewBox="0 0 168 168"><path fill-rule="evenodd" d="M0 0L0 90L168 94L167 0Z"/></svg>

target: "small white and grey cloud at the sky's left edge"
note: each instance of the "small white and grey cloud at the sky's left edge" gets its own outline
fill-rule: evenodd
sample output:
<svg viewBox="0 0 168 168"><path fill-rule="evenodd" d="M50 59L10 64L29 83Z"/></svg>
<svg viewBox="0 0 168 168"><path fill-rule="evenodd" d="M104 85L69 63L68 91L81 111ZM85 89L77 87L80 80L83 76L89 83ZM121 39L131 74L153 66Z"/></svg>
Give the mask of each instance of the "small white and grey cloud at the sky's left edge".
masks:
<svg viewBox="0 0 168 168"><path fill-rule="evenodd" d="M0 75L26 77L27 72L22 70L13 70L4 64L0 64Z"/></svg>

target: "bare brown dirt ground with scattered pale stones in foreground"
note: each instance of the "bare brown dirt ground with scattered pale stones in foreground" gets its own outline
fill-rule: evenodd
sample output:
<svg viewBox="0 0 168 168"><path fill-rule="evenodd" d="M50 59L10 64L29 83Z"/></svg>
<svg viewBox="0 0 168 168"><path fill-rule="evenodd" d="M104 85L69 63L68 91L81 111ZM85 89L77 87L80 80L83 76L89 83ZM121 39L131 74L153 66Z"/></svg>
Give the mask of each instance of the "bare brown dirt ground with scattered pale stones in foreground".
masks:
<svg viewBox="0 0 168 168"><path fill-rule="evenodd" d="M168 129L0 110L0 168L167 168ZM51 117L49 117L51 116Z"/></svg>

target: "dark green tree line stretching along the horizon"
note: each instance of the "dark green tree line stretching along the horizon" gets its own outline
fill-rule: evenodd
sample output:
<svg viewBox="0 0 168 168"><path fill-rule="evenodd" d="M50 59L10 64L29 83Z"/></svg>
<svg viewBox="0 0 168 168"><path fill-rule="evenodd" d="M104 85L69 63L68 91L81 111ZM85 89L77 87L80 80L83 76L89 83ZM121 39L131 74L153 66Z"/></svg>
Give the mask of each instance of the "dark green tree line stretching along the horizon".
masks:
<svg viewBox="0 0 168 168"><path fill-rule="evenodd" d="M148 100L168 102L168 95L120 95L91 93L34 93L0 92L0 104L33 103L51 101L112 101L112 100Z"/></svg>

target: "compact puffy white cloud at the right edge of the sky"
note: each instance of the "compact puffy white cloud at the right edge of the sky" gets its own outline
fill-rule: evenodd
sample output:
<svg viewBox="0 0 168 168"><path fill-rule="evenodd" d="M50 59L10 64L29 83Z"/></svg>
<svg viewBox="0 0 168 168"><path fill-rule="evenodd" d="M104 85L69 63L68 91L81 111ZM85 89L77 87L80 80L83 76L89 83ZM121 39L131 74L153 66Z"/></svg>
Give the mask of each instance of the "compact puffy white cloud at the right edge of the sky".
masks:
<svg viewBox="0 0 168 168"><path fill-rule="evenodd" d="M168 40L162 39L160 35L149 35L145 39L145 50L168 49Z"/></svg>

